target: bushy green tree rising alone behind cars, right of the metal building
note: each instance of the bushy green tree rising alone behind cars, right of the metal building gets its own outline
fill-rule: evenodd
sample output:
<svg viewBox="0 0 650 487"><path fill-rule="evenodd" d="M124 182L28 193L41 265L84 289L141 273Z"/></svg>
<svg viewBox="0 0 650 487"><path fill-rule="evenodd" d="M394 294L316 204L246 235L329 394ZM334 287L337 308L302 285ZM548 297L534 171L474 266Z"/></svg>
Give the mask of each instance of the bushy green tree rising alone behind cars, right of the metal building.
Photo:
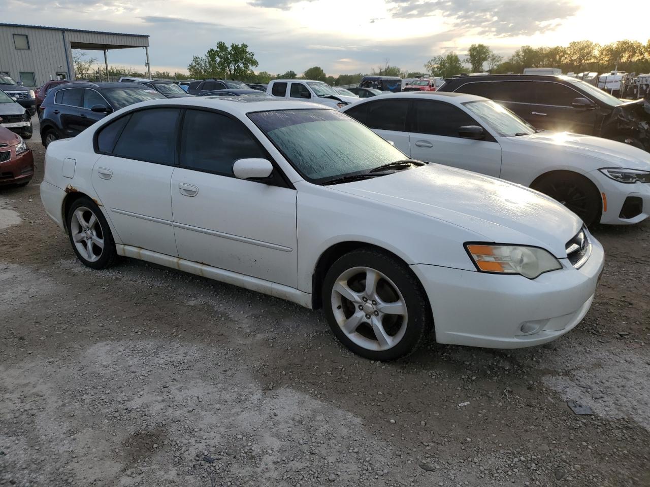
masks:
<svg viewBox="0 0 650 487"><path fill-rule="evenodd" d="M241 78L250 75L257 67L255 53L248 50L248 44L216 43L216 48L208 49L203 56L194 56L187 66L190 76L195 78Z"/></svg>

